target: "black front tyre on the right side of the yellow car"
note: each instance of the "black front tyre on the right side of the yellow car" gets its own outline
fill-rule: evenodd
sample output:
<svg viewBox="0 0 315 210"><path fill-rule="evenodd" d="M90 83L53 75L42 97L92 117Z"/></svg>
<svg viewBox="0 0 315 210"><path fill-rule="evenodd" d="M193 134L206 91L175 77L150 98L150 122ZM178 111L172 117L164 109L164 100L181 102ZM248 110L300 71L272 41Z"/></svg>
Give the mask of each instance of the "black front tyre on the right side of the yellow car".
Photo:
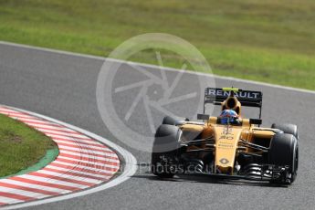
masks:
<svg viewBox="0 0 315 210"><path fill-rule="evenodd" d="M276 184L292 184L297 176L299 166L299 143L297 138L288 133L277 133L270 142L268 163L289 166L286 179L272 180Z"/></svg>

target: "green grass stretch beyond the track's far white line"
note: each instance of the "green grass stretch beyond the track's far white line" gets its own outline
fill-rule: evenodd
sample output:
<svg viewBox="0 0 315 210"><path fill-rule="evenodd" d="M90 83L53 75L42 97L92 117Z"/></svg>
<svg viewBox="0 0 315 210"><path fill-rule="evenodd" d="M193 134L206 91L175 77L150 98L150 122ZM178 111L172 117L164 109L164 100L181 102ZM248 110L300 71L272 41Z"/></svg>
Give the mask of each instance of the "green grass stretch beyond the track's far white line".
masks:
<svg viewBox="0 0 315 210"><path fill-rule="evenodd" d="M169 33L197 47L215 74L315 89L314 11L313 0L0 0L0 39L108 56L130 37ZM150 50L132 59L157 64Z"/></svg>

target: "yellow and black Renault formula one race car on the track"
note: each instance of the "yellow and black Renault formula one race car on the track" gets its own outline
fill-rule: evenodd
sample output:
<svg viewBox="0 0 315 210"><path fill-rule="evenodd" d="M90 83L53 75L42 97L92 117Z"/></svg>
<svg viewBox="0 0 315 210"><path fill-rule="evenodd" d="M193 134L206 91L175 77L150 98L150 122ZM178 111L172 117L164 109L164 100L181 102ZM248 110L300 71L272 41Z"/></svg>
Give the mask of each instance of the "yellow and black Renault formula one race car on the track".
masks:
<svg viewBox="0 0 315 210"><path fill-rule="evenodd" d="M221 105L210 117L205 105ZM242 106L259 108L259 119L242 118ZM297 176L299 134L293 124L261 128L262 93L242 89L205 89L200 121L166 116L152 148L152 173L172 178L197 173L228 179L292 184Z"/></svg>

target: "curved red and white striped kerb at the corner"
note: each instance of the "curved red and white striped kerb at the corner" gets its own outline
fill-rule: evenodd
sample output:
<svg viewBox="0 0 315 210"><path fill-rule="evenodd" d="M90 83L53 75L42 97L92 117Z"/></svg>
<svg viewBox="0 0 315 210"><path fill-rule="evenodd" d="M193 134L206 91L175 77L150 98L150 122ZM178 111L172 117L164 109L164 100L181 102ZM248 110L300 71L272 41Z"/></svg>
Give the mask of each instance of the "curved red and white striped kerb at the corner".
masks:
<svg viewBox="0 0 315 210"><path fill-rule="evenodd" d="M0 179L0 206L78 192L110 181L120 169L115 152L79 131L1 105L0 113L45 133L59 149L41 170Z"/></svg>

